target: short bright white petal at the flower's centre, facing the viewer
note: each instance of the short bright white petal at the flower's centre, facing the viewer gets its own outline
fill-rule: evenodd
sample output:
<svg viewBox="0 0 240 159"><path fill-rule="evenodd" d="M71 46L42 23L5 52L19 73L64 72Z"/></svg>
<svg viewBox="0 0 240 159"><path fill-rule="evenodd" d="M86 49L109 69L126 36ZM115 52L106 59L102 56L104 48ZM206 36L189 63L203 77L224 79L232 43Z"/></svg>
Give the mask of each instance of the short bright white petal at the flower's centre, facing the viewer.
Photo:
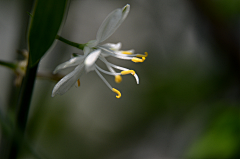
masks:
<svg viewBox="0 0 240 159"><path fill-rule="evenodd" d="M99 55L101 53L101 50L95 50L91 52L85 59L84 64L85 64L85 70L86 72L94 70L94 64L97 61Z"/></svg>

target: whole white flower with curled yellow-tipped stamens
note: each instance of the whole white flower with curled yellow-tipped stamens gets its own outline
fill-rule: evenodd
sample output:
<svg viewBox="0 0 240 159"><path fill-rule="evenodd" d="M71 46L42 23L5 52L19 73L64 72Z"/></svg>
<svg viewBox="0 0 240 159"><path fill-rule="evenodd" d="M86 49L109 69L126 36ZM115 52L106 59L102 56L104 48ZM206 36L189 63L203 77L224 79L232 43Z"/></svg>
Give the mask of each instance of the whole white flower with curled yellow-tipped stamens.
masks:
<svg viewBox="0 0 240 159"><path fill-rule="evenodd" d="M117 83L122 81L121 75L132 74L135 77L137 84L139 83L139 79L135 71L109 63L106 60L106 57L113 56L119 59L132 60L133 62L143 62L145 60L145 57L147 57L147 53L145 53L145 55L141 55L133 54L134 50L121 51L121 43L107 43L103 45L100 44L116 31L116 29L127 17L129 10L130 5L127 4L122 9L116 9L110 13L98 29L96 40L91 40L85 44L83 49L84 55L75 55L69 61L64 62L56 67L53 73L57 73L59 70L68 67L76 66L76 68L71 73L66 75L55 85L52 91L52 96L55 96L56 94L64 94L74 84L76 84L76 86L80 86L79 78L84 70L85 72L92 70L96 71L96 73L105 82L105 84L113 92L117 93L117 98L121 97L121 93L117 89L112 88L112 86L106 81L100 72L115 76L115 81ZM109 71L103 70L96 64L96 61L98 59L106 64ZM113 68L121 70L121 72L118 73Z"/></svg>

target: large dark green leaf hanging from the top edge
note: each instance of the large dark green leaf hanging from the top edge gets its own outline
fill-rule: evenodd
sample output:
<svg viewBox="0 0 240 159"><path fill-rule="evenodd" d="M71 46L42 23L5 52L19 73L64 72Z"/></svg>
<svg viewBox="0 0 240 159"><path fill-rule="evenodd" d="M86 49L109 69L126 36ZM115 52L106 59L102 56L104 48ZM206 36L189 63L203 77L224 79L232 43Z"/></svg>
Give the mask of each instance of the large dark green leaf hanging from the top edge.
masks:
<svg viewBox="0 0 240 159"><path fill-rule="evenodd" d="M28 32L30 67L52 46L63 21L68 0L36 0Z"/></svg>

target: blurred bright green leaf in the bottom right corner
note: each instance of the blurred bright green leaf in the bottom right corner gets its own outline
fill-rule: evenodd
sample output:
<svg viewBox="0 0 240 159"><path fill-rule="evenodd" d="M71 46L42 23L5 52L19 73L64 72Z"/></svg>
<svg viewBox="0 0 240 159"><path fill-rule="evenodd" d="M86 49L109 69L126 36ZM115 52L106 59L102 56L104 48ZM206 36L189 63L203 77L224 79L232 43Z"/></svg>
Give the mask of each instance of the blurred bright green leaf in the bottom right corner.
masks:
<svg viewBox="0 0 240 159"><path fill-rule="evenodd" d="M187 158L235 158L240 146L239 115L238 108L221 113L193 144Z"/></svg>

